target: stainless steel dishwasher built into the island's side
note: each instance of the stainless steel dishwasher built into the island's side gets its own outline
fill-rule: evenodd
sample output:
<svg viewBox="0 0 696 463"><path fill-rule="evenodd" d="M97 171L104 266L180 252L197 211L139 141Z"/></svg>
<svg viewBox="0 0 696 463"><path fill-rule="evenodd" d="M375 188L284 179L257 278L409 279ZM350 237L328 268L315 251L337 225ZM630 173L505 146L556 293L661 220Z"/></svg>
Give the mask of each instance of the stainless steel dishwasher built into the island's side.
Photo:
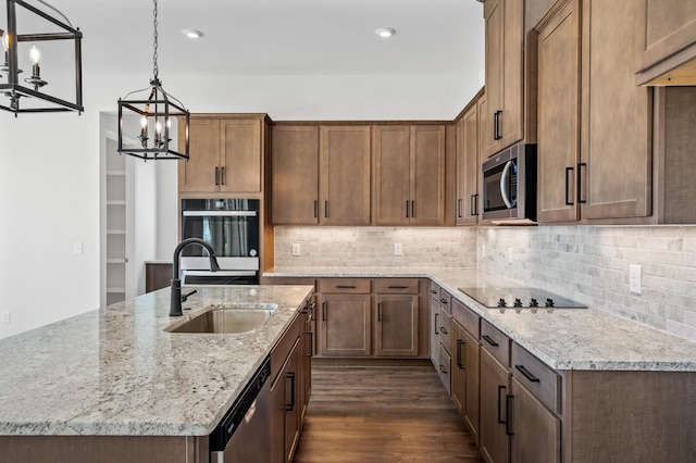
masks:
<svg viewBox="0 0 696 463"><path fill-rule="evenodd" d="M265 359L210 435L211 463L271 463L271 361Z"/></svg>

